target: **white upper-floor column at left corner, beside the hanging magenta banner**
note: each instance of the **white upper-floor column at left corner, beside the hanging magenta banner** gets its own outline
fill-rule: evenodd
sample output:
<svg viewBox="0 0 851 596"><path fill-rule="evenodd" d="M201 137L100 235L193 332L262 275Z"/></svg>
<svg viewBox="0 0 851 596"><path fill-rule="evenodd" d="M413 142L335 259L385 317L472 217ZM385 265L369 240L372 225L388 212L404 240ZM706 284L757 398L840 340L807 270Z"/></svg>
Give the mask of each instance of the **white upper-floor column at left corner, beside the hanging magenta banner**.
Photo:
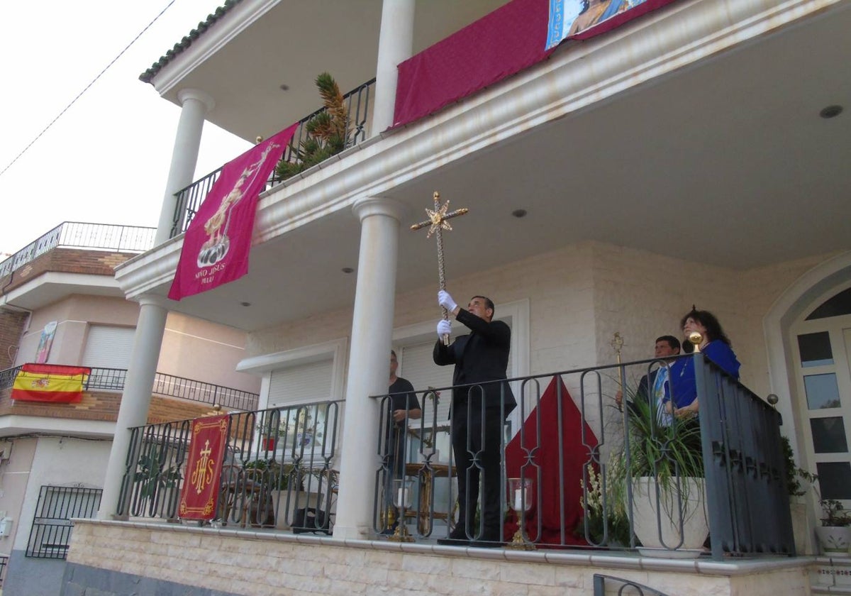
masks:
<svg viewBox="0 0 851 596"><path fill-rule="evenodd" d="M183 109L180 110L177 133L174 135L174 149L171 152L171 166L168 169L155 245L168 240L174 225L174 193L192 183L198 161L198 147L201 146L204 116L215 106L213 98L198 89L183 89L177 98Z"/></svg>

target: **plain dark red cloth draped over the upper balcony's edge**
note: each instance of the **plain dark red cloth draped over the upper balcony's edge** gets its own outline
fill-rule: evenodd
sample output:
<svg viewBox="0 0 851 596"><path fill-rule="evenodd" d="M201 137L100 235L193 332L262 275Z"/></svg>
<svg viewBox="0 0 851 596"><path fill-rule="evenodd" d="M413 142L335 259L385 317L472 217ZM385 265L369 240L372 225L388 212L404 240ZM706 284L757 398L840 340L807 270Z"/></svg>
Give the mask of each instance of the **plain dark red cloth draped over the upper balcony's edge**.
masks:
<svg viewBox="0 0 851 596"><path fill-rule="evenodd" d="M646 0L570 39L588 39L675 0ZM549 0L513 0L398 66L393 127L414 122L549 56Z"/></svg>

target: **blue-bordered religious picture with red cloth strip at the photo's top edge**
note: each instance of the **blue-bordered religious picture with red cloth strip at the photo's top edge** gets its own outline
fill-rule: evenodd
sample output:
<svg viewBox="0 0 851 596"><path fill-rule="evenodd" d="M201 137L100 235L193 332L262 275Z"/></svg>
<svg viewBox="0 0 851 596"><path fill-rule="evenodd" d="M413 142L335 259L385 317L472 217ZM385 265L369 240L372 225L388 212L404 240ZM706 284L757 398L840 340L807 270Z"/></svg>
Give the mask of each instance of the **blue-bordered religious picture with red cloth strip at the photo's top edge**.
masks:
<svg viewBox="0 0 851 596"><path fill-rule="evenodd" d="M587 39L609 32L626 21L674 0L550 0L545 49L564 39Z"/></svg>

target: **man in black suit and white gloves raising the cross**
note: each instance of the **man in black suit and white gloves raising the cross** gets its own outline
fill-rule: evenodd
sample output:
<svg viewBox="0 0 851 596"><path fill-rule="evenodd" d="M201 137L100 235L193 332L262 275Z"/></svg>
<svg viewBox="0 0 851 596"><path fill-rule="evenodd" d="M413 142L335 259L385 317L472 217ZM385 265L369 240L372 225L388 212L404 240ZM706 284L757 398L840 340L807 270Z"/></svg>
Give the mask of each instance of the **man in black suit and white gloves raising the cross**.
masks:
<svg viewBox="0 0 851 596"><path fill-rule="evenodd" d="M452 296L443 290L438 293L437 301L471 330L469 335L460 335L451 345L444 346L443 335L448 335L452 327L445 320L437 324L434 363L440 366L455 365L450 416L460 510L458 524L449 537L437 542L469 544L469 539L477 535L474 519L481 474L483 532L472 544L497 547L501 544L502 529L502 427L505 417L517 406L517 401L508 383L492 381L506 378L511 329L504 322L493 320L494 302L485 296L473 296L466 310L459 307Z"/></svg>

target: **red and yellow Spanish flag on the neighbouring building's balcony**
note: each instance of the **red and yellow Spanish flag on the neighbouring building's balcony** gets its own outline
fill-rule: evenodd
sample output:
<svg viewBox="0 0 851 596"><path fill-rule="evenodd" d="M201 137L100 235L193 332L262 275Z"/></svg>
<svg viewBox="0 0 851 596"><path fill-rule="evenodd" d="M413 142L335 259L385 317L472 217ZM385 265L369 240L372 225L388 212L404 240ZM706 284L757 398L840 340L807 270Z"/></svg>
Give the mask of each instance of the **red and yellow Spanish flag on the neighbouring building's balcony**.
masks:
<svg viewBox="0 0 851 596"><path fill-rule="evenodd" d="M12 399L28 402L76 404L92 370L85 366L24 364L14 377Z"/></svg>

